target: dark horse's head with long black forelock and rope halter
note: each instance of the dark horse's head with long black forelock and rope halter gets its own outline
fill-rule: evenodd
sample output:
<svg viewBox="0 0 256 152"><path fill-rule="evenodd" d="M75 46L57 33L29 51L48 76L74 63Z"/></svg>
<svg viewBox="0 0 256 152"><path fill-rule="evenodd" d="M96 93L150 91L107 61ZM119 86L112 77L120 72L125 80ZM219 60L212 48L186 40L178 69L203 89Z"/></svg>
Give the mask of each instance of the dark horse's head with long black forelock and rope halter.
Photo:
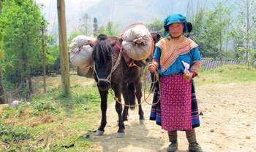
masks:
<svg viewBox="0 0 256 152"><path fill-rule="evenodd" d="M94 78L97 87L106 91L110 89L110 80L113 68L113 52L116 51L117 39L110 39L105 35L99 35L94 43L92 57L94 60Z"/></svg>

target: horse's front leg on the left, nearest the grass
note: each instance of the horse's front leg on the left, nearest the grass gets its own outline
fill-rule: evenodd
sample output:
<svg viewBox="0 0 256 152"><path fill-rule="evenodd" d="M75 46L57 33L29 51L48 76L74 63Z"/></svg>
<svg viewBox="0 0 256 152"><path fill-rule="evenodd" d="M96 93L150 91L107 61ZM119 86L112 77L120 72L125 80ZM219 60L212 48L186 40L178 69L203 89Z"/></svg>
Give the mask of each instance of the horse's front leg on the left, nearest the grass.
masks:
<svg viewBox="0 0 256 152"><path fill-rule="evenodd" d="M104 133L104 129L105 126L107 124L107 117L106 117L106 113L107 113L107 108L108 108L108 91L100 91L99 90L99 95L100 95L100 99L101 99L101 103L100 103L100 108L102 111L102 120L100 122L100 126L97 129L96 135L103 135Z"/></svg>

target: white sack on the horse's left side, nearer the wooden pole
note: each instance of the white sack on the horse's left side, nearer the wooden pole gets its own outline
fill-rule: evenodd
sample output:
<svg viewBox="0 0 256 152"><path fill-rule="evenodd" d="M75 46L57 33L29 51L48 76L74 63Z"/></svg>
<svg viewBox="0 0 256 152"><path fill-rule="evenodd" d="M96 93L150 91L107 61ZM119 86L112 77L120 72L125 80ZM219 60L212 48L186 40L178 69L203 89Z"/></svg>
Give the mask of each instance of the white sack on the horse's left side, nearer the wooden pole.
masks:
<svg viewBox="0 0 256 152"><path fill-rule="evenodd" d="M89 36L76 36L72 39L69 45L70 50L70 62L75 66L88 66L91 64L92 47L89 45L89 41L95 41L93 37Z"/></svg>

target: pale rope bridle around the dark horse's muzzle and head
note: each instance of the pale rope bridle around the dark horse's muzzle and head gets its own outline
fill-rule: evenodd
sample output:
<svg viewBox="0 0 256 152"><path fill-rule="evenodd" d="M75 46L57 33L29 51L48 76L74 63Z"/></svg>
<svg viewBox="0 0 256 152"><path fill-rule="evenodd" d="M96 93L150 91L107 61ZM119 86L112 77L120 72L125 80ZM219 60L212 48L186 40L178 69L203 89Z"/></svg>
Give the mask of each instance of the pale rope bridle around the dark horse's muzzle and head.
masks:
<svg viewBox="0 0 256 152"><path fill-rule="evenodd" d="M118 66L119 63L120 63L121 54L122 54L122 53L123 53L123 50L120 49L120 52L119 52L119 54L118 54L118 57L117 57L117 60L116 60L115 65L114 65L114 59L113 59L113 55L112 55L112 68L111 68L111 71L110 71L109 75L108 75L105 79L104 79L104 78L99 78L98 73L97 73L96 68L95 68L95 63L94 63L94 73L95 73L95 75L97 76L97 80L98 80L98 81L106 81L106 82L108 82L109 84L111 84L111 76L112 76L112 73L113 73L114 71L116 71L116 68L117 68L117 66ZM98 82L98 81L97 81L97 82Z"/></svg>

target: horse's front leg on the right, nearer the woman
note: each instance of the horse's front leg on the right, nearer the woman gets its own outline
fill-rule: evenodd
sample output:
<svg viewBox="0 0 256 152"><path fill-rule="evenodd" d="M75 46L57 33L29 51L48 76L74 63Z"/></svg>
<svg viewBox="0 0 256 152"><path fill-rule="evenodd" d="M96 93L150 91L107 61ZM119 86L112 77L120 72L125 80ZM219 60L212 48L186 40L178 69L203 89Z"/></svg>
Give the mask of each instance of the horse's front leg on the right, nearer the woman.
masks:
<svg viewBox="0 0 256 152"><path fill-rule="evenodd" d="M118 87L113 87L113 90L115 92L115 96L119 102L121 102L121 85L118 85ZM120 103L116 101L116 112L118 113L118 131L117 131L117 137L121 138L124 137L124 121L121 116L121 113L123 111L123 107Z"/></svg>

